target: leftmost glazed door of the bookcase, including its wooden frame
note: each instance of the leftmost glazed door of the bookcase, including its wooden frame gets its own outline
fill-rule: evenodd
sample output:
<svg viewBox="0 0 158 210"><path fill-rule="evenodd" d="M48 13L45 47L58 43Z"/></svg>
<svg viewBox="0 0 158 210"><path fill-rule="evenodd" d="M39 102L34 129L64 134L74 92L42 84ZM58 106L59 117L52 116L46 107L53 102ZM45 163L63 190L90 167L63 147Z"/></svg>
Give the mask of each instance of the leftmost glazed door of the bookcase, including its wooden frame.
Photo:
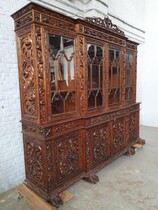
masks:
<svg viewBox="0 0 158 210"><path fill-rule="evenodd" d="M49 118L71 116L77 111L75 38L46 32Z"/></svg>

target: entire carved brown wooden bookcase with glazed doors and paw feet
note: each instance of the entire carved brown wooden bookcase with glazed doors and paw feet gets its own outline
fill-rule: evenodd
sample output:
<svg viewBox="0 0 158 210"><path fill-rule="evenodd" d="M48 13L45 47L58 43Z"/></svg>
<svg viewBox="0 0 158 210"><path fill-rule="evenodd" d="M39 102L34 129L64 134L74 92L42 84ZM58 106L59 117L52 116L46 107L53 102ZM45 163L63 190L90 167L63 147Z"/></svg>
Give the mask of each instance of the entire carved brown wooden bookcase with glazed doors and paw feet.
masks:
<svg viewBox="0 0 158 210"><path fill-rule="evenodd" d="M72 19L30 3L17 40L25 183L54 206L139 138L137 43L109 18Z"/></svg>

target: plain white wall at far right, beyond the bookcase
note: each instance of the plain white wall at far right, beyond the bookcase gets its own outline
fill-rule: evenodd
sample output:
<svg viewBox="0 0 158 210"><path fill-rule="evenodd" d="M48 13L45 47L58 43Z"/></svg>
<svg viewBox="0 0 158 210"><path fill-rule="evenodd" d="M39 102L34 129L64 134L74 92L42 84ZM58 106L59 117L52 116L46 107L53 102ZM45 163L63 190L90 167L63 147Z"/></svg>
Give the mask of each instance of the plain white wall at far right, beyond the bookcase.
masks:
<svg viewBox="0 0 158 210"><path fill-rule="evenodd" d="M158 1L146 0L142 124L158 127Z"/></svg>

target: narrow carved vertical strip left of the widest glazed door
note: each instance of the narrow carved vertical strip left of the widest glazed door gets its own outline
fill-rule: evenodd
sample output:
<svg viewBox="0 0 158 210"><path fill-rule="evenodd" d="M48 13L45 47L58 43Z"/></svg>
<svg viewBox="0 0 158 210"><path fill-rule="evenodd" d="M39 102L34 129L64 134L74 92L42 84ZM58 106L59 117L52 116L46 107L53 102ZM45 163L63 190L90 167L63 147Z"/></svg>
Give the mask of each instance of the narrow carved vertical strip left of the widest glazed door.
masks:
<svg viewBox="0 0 158 210"><path fill-rule="evenodd" d="M44 67L43 67L43 58L42 58L41 30L42 29L38 26L35 28L40 120L41 122L44 122L46 121L46 104L45 104Z"/></svg>

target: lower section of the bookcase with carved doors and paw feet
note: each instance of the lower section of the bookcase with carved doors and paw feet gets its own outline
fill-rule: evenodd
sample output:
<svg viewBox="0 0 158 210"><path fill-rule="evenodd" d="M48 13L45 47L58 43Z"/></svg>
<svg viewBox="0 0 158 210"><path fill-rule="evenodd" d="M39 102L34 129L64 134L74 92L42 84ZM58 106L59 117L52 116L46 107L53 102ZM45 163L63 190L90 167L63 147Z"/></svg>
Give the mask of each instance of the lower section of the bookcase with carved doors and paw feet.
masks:
<svg viewBox="0 0 158 210"><path fill-rule="evenodd" d="M71 121L65 123L61 135L54 125L23 126L26 183L53 205L79 179L96 183L94 173L139 140L138 105L76 122L74 130Z"/></svg>

